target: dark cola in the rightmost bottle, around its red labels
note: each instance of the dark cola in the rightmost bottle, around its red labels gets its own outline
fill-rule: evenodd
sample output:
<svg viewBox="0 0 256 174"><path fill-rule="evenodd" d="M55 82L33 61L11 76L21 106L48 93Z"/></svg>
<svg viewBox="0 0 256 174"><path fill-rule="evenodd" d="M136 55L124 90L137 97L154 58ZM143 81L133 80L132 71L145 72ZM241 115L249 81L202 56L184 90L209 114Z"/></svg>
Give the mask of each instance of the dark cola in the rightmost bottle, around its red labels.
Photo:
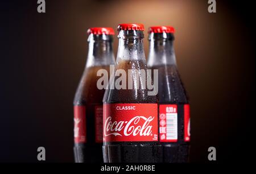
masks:
<svg viewBox="0 0 256 174"><path fill-rule="evenodd" d="M163 162L184 163L188 161L189 143L184 142L184 104L188 96L177 71L176 65L150 67L158 69L158 100L161 104L177 105L177 142L161 142Z"/></svg>

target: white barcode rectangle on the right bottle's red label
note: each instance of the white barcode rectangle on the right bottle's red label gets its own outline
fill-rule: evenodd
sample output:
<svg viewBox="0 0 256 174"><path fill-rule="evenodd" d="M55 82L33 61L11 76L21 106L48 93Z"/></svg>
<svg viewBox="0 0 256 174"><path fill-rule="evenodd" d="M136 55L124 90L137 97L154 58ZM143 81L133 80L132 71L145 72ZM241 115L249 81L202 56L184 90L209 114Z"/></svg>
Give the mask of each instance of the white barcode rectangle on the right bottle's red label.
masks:
<svg viewBox="0 0 256 174"><path fill-rule="evenodd" d="M166 139L177 139L177 113L166 113Z"/></svg>

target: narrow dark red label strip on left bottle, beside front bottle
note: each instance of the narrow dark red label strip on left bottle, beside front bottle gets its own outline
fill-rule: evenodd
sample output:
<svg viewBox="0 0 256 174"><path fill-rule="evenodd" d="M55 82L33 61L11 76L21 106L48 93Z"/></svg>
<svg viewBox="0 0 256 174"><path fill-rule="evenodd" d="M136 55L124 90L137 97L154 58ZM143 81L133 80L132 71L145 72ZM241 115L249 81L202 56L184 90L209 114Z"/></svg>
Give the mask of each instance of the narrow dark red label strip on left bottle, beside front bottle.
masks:
<svg viewBox="0 0 256 174"><path fill-rule="evenodd" d="M95 142L102 143L103 140L103 107L102 105L95 106Z"/></svg>

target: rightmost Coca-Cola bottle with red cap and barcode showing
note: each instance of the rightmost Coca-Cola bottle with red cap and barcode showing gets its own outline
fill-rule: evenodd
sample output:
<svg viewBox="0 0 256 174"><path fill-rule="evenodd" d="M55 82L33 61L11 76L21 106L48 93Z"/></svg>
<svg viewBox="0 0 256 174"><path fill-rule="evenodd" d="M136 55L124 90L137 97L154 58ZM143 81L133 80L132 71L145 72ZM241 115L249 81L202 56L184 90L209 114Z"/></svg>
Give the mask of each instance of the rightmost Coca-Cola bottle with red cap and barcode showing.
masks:
<svg viewBox="0 0 256 174"><path fill-rule="evenodd" d="M187 162L190 140L189 103L174 52L174 28L149 28L147 65L158 69L159 141L163 162Z"/></svg>

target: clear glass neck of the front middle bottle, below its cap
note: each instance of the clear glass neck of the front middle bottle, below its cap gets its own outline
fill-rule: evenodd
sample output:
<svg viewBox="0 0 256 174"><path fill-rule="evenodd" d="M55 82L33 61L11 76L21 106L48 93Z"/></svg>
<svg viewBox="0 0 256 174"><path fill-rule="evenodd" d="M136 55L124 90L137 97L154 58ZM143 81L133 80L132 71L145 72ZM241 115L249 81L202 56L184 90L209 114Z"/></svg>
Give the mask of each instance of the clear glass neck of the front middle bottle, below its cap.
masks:
<svg viewBox="0 0 256 174"><path fill-rule="evenodd" d="M142 60L146 62L143 47L143 31L121 30L119 31L118 38L117 62L119 60Z"/></svg>

